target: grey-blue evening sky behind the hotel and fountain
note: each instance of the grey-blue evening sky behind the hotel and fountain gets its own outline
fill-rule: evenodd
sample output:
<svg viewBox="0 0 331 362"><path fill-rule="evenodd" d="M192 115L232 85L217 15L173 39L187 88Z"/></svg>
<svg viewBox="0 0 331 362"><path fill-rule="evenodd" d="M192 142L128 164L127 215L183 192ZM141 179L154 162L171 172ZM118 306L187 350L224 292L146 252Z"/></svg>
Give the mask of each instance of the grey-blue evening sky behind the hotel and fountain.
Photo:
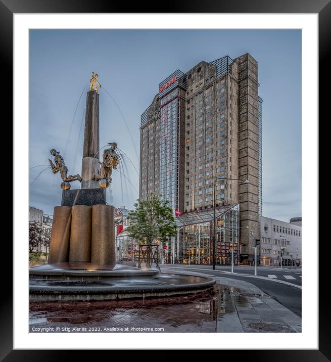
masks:
<svg viewBox="0 0 331 362"><path fill-rule="evenodd" d="M140 115L158 84L201 61L250 53L262 103L263 216L301 216L301 30L30 30L30 206L53 214L62 182L48 158L61 152L81 174L84 109L91 72L99 74L100 147L116 142L107 202L133 208L139 188ZM122 179L121 179L122 178ZM80 188L79 182L71 184Z"/></svg>

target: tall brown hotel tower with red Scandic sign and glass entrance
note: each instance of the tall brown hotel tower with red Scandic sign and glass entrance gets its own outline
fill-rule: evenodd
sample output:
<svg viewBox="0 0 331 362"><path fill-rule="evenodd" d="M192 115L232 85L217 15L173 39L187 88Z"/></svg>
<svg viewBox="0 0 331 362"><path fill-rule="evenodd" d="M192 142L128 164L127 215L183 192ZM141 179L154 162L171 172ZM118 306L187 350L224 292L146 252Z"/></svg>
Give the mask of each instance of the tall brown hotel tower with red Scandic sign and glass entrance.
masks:
<svg viewBox="0 0 331 362"><path fill-rule="evenodd" d="M172 261L212 263L216 177L224 178L216 186L216 261L227 263L231 248L237 262L254 258L262 215L257 74L250 54L202 61L163 80L141 115L139 198L162 195L182 213L167 249Z"/></svg>

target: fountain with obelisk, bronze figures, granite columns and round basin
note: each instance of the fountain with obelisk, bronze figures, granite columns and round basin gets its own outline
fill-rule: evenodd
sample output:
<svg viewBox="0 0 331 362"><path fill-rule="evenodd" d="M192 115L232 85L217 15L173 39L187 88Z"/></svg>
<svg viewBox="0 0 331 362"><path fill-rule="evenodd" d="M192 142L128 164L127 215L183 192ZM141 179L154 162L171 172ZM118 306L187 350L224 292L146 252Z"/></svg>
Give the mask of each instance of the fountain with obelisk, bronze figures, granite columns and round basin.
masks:
<svg viewBox="0 0 331 362"><path fill-rule="evenodd" d="M211 290L214 279L164 274L157 269L116 265L114 206L105 190L120 163L117 144L99 160L98 74L86 95L82 171L69 175L60 151L51 150L54 174L60 173L61 206L55 206L48 264L30 268L30 300L107 300L193 294ZM71 190L71 182L81 183Z"/></svg>

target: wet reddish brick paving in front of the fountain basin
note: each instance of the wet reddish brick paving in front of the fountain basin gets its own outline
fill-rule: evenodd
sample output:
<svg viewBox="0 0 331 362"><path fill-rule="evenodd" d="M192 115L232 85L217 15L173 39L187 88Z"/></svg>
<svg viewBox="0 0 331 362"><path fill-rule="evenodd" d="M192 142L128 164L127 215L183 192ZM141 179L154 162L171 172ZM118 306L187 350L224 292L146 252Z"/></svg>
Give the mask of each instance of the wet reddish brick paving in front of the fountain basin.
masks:
<svg viewBox="0 0 331 362"><path fill-rule="evenodd" d="M53 327L49 332L216 332L217 293L215 287L212 293L145 300L30 302L30 332L47 327Z"/></svg>

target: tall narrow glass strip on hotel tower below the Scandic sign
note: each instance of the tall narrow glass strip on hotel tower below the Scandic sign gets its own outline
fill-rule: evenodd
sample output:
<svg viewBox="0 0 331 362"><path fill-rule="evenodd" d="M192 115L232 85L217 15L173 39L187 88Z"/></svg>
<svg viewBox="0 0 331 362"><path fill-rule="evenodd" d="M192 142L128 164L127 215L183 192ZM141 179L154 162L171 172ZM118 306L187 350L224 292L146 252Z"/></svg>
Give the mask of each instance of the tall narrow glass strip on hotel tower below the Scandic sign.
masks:
<svg viewBox="0 0 331 362"><path fill-rule="evenodd" d="M171 208L178 208L179 195L179 130L180 89L168 93L161 99L160 131L160 194L169 200Z"/></svg>

